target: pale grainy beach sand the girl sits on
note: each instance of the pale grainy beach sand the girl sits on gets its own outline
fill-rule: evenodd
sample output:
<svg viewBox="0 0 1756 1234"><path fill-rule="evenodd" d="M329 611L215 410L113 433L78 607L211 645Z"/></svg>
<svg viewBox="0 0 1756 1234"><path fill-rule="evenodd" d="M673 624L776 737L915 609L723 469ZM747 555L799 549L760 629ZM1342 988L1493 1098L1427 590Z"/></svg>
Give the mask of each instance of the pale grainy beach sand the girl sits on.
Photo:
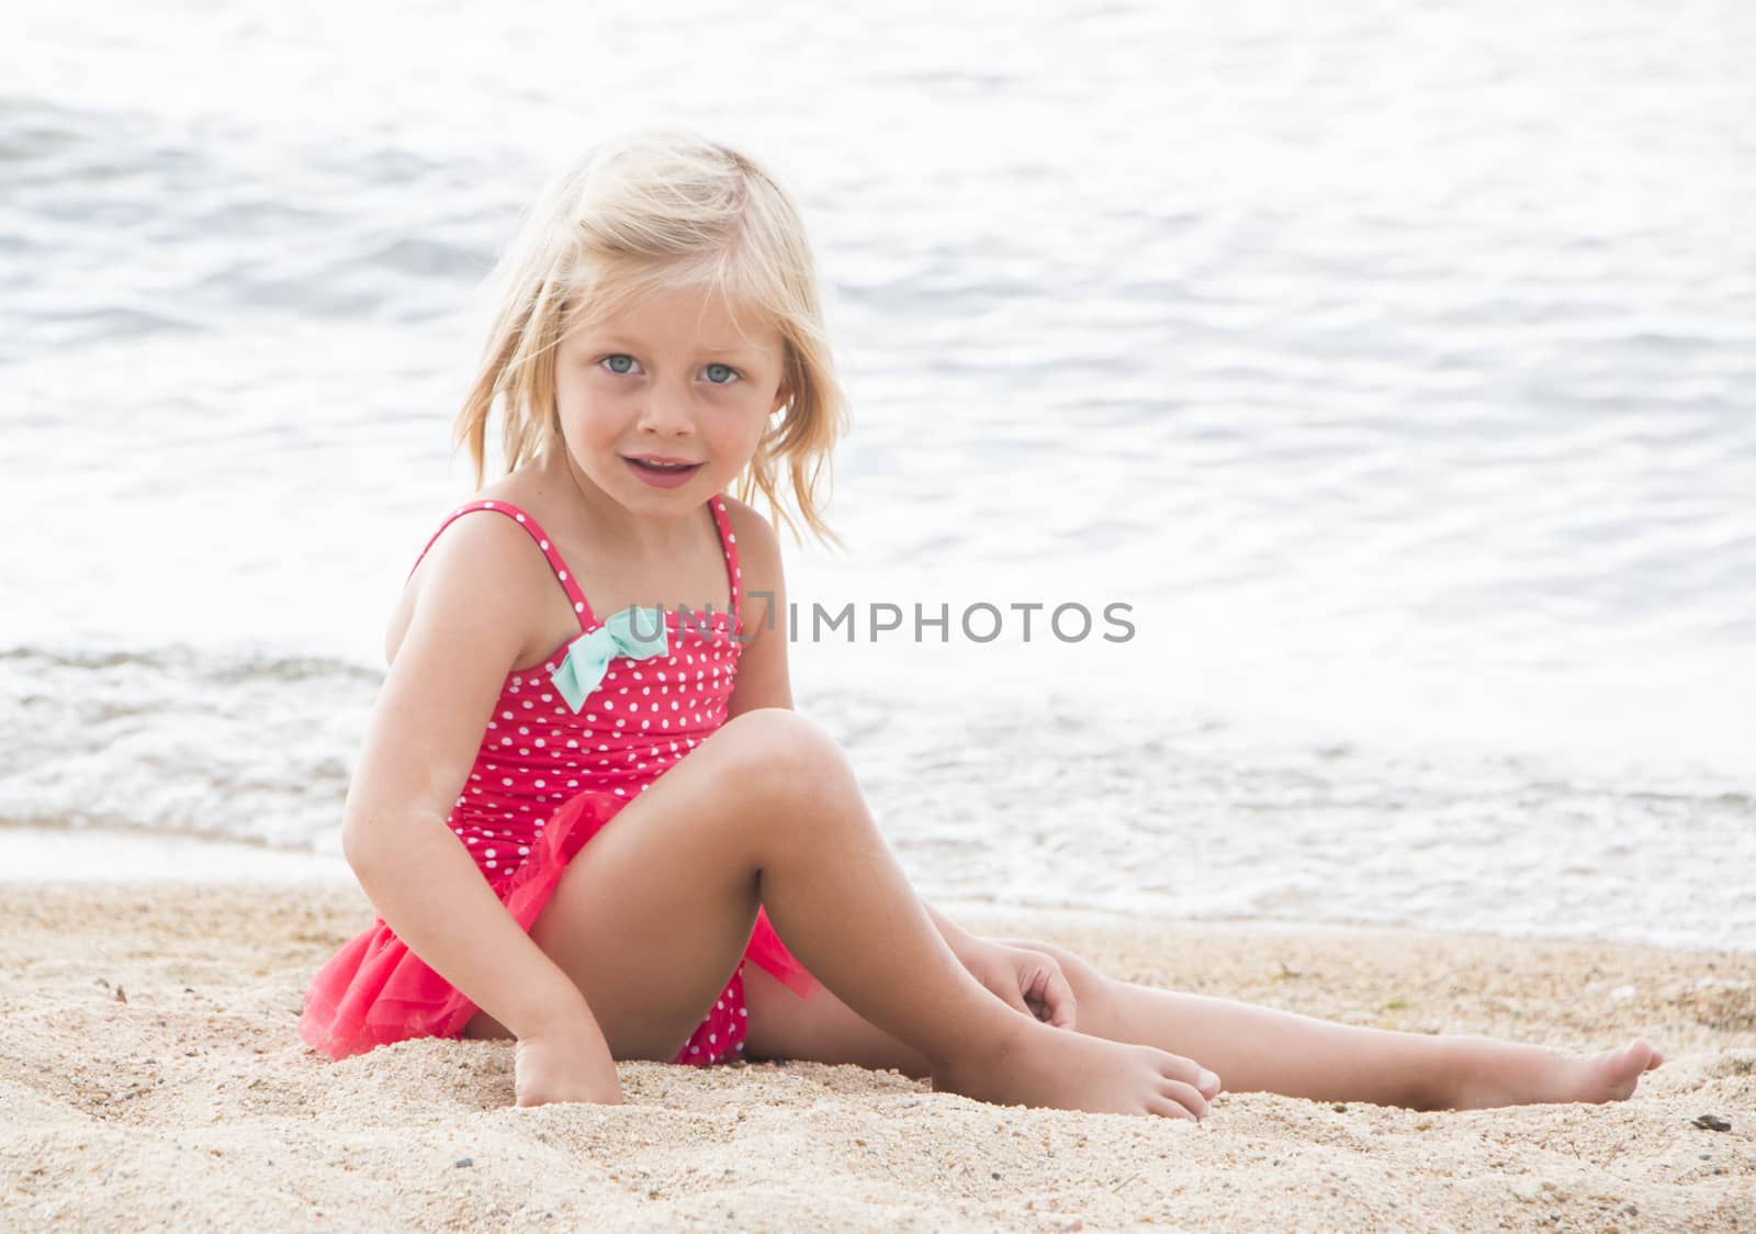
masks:
<svg viewBox="0 0 1756 1234"><path fill-rule="evenodd" d="M1666 1063L1617 1106L1226 1093L1201 1125L815 1063L622 1063L622 1107L518 1109L506 1042L299 1042L371 918L346 884L9 884L0 1225L1756 1229L1752 953L952 914L1133 981Z"/></svg>

